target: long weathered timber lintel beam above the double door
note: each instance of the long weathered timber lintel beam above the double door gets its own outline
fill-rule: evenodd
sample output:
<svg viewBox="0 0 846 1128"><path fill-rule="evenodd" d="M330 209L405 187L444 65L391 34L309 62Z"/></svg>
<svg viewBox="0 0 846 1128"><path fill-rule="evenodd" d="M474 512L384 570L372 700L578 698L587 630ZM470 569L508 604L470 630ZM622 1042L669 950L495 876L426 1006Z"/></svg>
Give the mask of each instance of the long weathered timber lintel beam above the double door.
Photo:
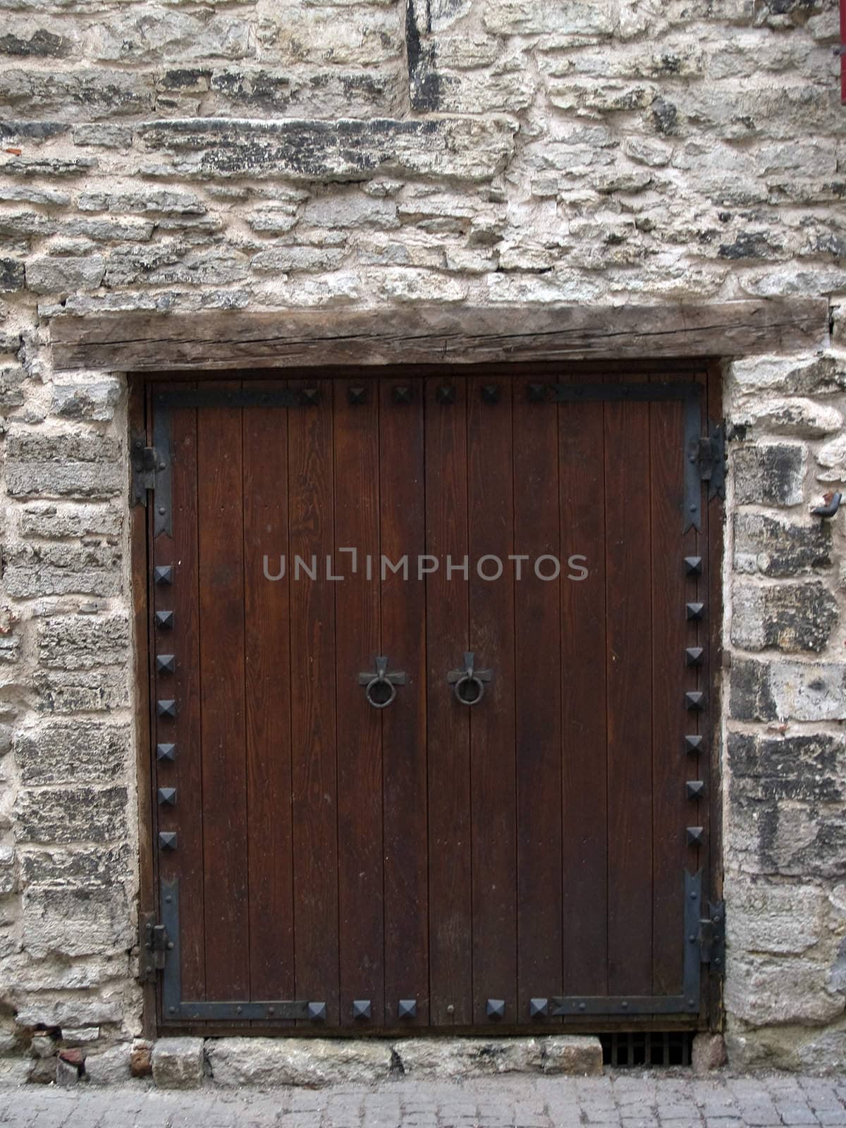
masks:
<svg viewBox="0 0 846 1128"><path fill-rule="evenodd" d="M742 356L825 349L828 302L139 314L59 317L51 335L65 370Z"/></svg>

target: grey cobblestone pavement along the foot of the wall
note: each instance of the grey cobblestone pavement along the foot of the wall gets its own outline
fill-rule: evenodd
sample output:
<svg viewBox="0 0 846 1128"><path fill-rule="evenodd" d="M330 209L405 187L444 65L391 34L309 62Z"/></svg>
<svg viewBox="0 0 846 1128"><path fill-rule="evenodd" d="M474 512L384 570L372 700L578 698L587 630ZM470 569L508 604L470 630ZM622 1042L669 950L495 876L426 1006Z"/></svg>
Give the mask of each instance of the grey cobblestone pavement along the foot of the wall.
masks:
<svg viewBox="0 0 846 1128"><path fill-rule="evenodd" d="M772 1128L846 1126L846 1077L617 1074L397 1081L376 1089L162 1092L35 1085L0 1091L14 1128Z"/></svg>

